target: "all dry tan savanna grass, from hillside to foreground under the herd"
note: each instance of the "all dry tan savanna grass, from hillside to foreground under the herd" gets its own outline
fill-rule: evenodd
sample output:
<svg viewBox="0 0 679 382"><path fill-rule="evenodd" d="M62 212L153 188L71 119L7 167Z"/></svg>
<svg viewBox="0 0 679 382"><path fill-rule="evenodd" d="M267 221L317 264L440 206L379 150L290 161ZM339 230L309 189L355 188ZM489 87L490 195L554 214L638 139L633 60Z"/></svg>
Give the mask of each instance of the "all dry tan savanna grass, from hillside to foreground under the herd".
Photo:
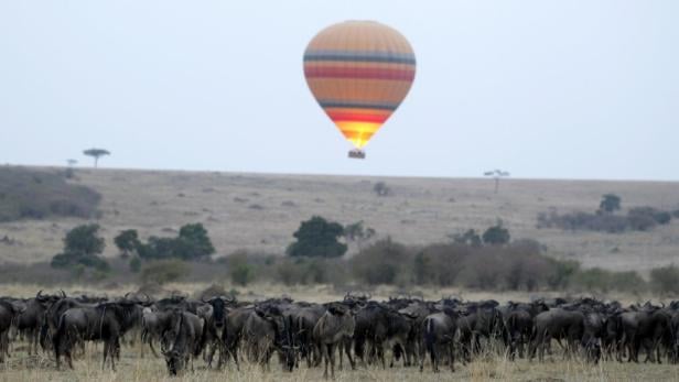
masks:
<svg viewBox="0 0 679 382"><path fill-rule="evenodd" d="M33 168L62 173L64 168ZM254 253L281 254L292 241L292 232L300 221L314 215L343 225L364 221L377 231L377 238L391 237L405 244L431 244L450 240L449 234L470 228L483 231L502 220L513 239L529 238L546 245L546 254L559 259L578 260L584 268L601 266L614 271L639 271L670 264L679 254L679 219L657 226L649 231L604 233L538 229L539 212L557 210L593 212L603 194L622 197L623 212L630 207L650 206L662 210L679 209L679 183L532 181L503 179L499 194L494 194L491 179L406 178L369 176L270 175L223 172L131 171L76 168L67 182L86 186L101 196L98 217L90 221L100 225L106 239L105 255L118 257L112 238L121 230L137 229L142 239L149 236L171 237L181 226L203 223L209 231L217 257L246 249ZM388 196L377 196L375 184L384 182ZM43 263L41 272L50 272L44 264L62 249L64 234L83 218L47 217L0 222L0 263ZM351 251L357 248L352 245ZM349 253L352 255L352 253ZM17 265L12 265L17 266ZM209 266L203 264L201 266ZM11 271L13 272L13 271ZM46 273L45 273L46 274ZM1 281L0 281L1 282ZM165 284L157 296L181 293L197 296L200 291L216 282ZM77 281L76 281L77 283ZM342 298L345 291L333 285L269 284L259 280L248 286L236 286L225 276L220 287L235 290L238 298L256 301L287 294L295 299L327 302ZM0 283L0 295L34 296L45 288L56 293L64 287L69 295L119 296L137 291L138 284L94 283L87 285L54 285L46 287L26 283ZM50 290L51 288L51 290ZM50 290L50 291L47 291ZM397 286L373 287L373 298L384 299L398 294ZM418 287L428 299L456 295L465 299L494 298L527 301L535 293L548 292L475 292L455 288ZM653 295L616 295L624 303L654 298ZM665 299L672 299L665 296ZM554 345L556 347L556 345ZM288 381L321 380L322 369L308 370L302 365L292 374L282 371L273 359L268 371L244 364L238 372L229 364L222 371L207 370L197 360L195 372L169 379L164 361L149 352L142 359L140 345L123 346L118 371L101 371L100 345L88 345L85 356L75 361L75 371L56 371L50 353L28 356L25 342L12 342L11 358L0 364L2 381ZM346 365L346 361L345 361ZM337 372L338 381L432 381L432 380L517 380L517 381L656 381L679 380L675 364L618 363L603 361L597 365L580 359L564 360L561 352L545 363L518 360L509 362L500 353L488 353L472 363L456 364L456 372L442 370L433 374L429 365L382 370L359 367L356 371Z"/></svg>

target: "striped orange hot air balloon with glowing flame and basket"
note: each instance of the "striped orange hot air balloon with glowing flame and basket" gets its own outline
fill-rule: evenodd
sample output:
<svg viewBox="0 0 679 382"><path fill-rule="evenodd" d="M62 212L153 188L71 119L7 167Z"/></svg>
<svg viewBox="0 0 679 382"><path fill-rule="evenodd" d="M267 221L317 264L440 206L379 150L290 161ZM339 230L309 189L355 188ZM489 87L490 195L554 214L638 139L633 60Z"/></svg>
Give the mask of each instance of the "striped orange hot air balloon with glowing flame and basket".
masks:
<svg viewBox="0 0 679 382"><path fill-rule="evenodd" d="M416 59L408 40L374 21L331 25L309 43L304 77L311 92L355 146L363 148L408 95Z"/></svg>

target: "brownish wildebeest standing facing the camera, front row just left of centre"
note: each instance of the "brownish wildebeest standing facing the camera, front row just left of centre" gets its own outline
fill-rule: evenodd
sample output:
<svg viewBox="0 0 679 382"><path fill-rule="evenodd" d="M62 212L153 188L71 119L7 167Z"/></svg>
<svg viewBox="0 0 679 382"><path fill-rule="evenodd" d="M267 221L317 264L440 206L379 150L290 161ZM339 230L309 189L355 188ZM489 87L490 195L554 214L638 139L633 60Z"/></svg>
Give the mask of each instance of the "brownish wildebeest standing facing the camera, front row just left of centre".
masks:
<svg viewBox="0 0 679 382"><path fill-rule="evenodd" d="M335 376L335 348L344 346L347 338L354 336L355 321L352 308L355 306L355 302L327 304L327 310L313 328L313 340L321 349L321 356L325 365L324 378L327 378L328 364L331 365L331 375ZM340 351L342 351L342 347ZM346 354L349 358L352 369L354 369L354 360L349 349L346 349ZM342 352L340 357L342 357Z"/></svg>

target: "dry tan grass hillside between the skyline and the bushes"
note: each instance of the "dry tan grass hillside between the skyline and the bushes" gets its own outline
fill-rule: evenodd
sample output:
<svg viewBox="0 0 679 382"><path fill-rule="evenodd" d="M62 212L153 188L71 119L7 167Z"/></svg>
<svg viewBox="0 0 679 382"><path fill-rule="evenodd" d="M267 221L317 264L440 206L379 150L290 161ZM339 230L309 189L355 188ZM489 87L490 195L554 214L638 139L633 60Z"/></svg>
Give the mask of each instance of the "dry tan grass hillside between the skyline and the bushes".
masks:
<svg viewBox="0 0 679 382"><path fill-rule="evenodd" d="M538 212L551 207L561 212L592 211L605 193L619 195L624 207L677 209L679 183L506 179L494 195L489 179L105 168L78 168L76 176L76 183L104 195L98 222L109 257L116 255L112 237L122 229L138 229L142 237L173 236L187 222L203 222L219 254L241 248L282 253L300 221L312 215L343 223L364 220L379 236L408 244L443 241L449 233L484 229L502 219L514 238L534 238L553 255L613 270L644 271L671 263L679 245L678 222L624 234L536 228ZM373 193L379 181L394 196ZM82 222L0 223L0 238L17 240L13 245L0 243L0 261L48 260L61 250L64 233Z"/></svg>

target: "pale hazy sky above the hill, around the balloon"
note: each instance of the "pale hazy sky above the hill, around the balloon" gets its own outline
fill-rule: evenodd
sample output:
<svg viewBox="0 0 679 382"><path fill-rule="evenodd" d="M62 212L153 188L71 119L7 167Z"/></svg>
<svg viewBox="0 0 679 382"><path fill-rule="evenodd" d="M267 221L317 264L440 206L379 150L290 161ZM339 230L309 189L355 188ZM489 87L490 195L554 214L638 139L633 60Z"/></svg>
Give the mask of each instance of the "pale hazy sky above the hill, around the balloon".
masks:
<svg viewBox="0 0 679 382"><path fill-rule="evenodd" d="M302 74L328 24L412 44L349 160ZM0 1L0 163L679 179L679 1Z"/></svg>

